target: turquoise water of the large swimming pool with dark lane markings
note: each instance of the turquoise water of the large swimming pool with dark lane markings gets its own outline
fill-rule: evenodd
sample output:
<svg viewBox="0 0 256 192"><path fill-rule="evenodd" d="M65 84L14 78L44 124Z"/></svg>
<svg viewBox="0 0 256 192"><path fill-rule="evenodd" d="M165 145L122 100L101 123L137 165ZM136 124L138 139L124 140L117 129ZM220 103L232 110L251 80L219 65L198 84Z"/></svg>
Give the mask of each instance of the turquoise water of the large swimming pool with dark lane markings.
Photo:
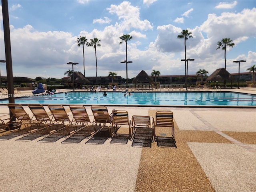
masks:
<svg viewBox="0 0 256 192"><path fill-rule="evenodd" d="M100 104L162 106L256 106L256 95L235 92L67 92L54 95L15 98L19 104ZM8 100L1 100L1 104Z"/></svg>

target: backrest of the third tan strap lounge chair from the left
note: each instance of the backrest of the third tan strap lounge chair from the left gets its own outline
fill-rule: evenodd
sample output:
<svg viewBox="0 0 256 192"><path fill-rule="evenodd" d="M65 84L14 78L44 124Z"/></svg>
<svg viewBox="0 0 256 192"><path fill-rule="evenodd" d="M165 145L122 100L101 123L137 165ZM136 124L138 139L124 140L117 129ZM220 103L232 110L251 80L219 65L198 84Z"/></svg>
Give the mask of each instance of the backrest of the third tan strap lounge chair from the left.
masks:
<svg viewBox="0 0 256 192"><path fill-rule="evenodd" d="M65 121L70 122L68 114L62 105L48 105L48 108L50 109L56 122L61 122L62 124L64 124Z"/></svg>

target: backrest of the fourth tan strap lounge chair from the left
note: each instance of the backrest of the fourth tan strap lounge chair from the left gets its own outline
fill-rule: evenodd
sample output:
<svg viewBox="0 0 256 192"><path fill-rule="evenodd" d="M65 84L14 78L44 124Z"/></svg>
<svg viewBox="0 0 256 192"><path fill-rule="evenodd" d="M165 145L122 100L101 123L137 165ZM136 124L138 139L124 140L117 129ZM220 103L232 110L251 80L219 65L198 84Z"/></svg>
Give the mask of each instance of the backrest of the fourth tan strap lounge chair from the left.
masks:
<svg viewBox="0 0 256 192"><path fill-rule="evenodd" d="M70 105L69 108L76 122L90 123L90 118L83 105Z"/></svg>

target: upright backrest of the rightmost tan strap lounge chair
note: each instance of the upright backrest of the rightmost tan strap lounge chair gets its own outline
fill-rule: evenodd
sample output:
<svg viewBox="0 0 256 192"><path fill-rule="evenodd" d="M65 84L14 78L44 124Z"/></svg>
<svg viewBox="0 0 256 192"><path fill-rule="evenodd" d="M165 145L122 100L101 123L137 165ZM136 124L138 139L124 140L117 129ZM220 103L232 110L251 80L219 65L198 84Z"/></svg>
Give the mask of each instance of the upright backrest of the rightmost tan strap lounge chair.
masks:
<svg viewBox="0 0 256 192"><path fill-rule="evenodd" d="M173 113L171 111L168 111L168 112L157 111L155 125L162 126L162 127L172 127L173 126Z"/></svg>

